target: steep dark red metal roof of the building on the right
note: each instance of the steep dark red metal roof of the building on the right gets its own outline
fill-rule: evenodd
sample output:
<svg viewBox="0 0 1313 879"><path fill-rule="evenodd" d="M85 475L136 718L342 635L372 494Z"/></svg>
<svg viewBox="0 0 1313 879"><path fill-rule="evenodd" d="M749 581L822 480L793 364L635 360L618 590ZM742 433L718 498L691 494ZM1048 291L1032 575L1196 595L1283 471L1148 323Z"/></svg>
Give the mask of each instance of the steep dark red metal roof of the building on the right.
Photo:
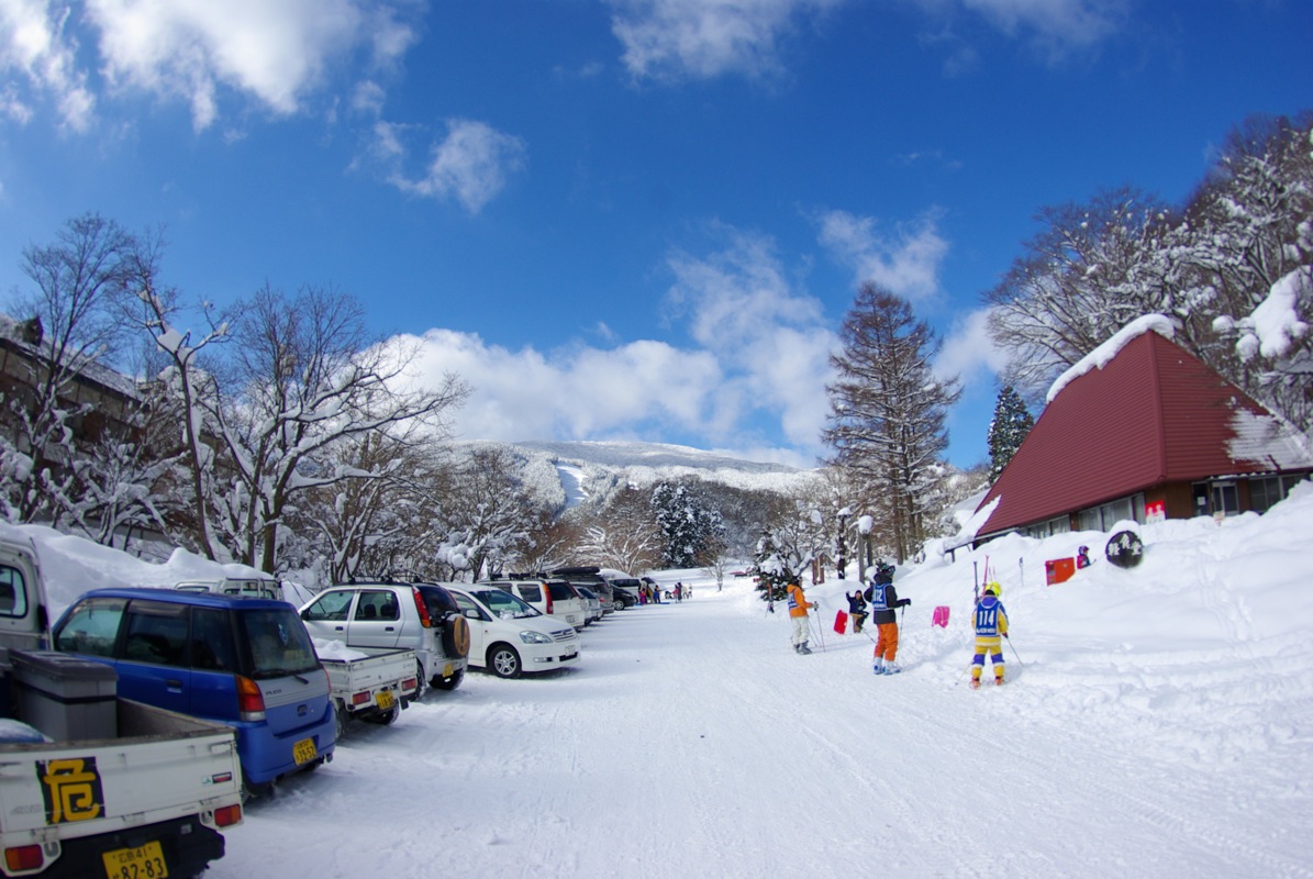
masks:
<svg viewBox="0 0 1313 879"><path fill-rule="evenodd" d="M1035 423L977 510L999 498L986 536L1162 485L1270 462L1232 457L1233 415L1267 410L1158 332L1073 378Z"/></svg>

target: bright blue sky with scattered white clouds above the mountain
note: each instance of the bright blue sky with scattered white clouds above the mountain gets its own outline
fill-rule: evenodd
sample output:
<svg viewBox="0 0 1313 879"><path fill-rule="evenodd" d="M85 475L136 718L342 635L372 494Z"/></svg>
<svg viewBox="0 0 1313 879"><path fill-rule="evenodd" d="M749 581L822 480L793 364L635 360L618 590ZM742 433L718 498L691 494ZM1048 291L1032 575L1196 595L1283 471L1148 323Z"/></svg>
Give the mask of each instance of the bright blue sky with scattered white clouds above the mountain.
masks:
<svg viewBox="0 0 1313 879"><path fill-rule="evenodd" d="M1313 108L1304 0L4 0L0 292L98 212L164 280L358 296L463 439L811 464L857 285L913 302L986 457L994 286L1044 205L1179 202Z"/></svg>

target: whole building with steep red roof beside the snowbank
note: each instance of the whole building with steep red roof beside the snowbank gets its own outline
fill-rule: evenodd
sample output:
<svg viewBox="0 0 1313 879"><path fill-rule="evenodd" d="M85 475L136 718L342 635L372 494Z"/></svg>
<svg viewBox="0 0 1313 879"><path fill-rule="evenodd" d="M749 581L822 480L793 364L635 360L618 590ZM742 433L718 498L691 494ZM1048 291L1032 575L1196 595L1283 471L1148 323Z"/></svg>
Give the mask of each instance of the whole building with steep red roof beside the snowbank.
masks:
<svg viewBox="0 0 1313 879"><path fill-rule="evenodd" d="M1141 318L1054 384L977 507L977 541L1262 512L1308 478L1306 444L1171 334Z"/></svg>

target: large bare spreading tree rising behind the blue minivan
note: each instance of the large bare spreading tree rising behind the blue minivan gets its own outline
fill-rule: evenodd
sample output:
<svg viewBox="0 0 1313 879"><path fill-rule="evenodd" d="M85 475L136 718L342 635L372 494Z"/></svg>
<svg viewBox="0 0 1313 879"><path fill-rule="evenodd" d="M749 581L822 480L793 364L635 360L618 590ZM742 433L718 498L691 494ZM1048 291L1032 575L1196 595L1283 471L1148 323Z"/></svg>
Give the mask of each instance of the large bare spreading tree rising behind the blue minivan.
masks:
<svg viewBox="0 0 1313 879"><path fill-rule="evenodd" d="M456 376L404 390L414 348L368 339L360 302L334 288L286 297L265 286L234 306L231 323L210 319L197 344L176 328L173 297L146 290L140 301L140 326L169 355L184 398L197 543L210 558L277 572L280 530L305 491L385 476L334 464L340 440L402 424L441 436L467 393ZM198 352L223 339L230 356L202 368Z"/></svg>

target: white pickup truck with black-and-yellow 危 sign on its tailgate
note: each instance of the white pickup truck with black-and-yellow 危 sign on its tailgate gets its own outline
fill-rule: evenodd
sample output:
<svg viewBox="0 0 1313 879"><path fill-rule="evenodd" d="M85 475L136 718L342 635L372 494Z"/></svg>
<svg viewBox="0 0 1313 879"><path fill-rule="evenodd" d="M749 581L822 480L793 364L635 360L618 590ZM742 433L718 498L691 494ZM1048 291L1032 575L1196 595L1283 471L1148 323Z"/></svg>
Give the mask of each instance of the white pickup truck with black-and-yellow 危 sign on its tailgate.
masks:
<svg viewBox="0 0 1313 879"><path fill-rule="evenodd" d="M232 731L117 698L47 621L35 548L0 540L0 875L202 872L242 823Z"/></svg>

